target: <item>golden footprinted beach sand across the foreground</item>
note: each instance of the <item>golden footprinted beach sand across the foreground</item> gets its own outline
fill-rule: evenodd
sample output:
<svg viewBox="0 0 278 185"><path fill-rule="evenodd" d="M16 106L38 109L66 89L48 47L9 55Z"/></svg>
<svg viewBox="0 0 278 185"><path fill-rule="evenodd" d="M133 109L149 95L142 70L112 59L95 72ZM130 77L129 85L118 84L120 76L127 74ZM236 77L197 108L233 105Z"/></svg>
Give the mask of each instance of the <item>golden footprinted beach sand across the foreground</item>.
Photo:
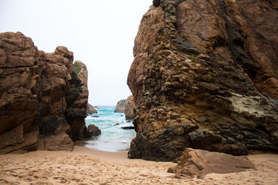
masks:
<svg viewBox="0 0 278 185"><path fill-rule="evenodd" d="M278 184L278 155L250 155L257 170L175 179L171 162L128 159L127 152L74 151L0 155L0 184Z"/></svg>

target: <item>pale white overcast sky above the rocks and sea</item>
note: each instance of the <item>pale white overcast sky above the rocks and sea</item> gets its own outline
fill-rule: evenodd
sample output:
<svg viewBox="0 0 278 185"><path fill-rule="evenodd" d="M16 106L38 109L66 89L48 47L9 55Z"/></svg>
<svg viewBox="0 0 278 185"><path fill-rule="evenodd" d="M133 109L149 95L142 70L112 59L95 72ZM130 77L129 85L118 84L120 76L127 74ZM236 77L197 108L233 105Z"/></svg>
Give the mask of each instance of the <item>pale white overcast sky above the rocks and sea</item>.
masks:
<svg viewBox="0 0 278 185"><path fill-rule="evenodd" d="M66 46L88 68L89 103L116 105L126 85L133 44L152 0L0 0L0 32L22 32L38 49Z"/></svg>

